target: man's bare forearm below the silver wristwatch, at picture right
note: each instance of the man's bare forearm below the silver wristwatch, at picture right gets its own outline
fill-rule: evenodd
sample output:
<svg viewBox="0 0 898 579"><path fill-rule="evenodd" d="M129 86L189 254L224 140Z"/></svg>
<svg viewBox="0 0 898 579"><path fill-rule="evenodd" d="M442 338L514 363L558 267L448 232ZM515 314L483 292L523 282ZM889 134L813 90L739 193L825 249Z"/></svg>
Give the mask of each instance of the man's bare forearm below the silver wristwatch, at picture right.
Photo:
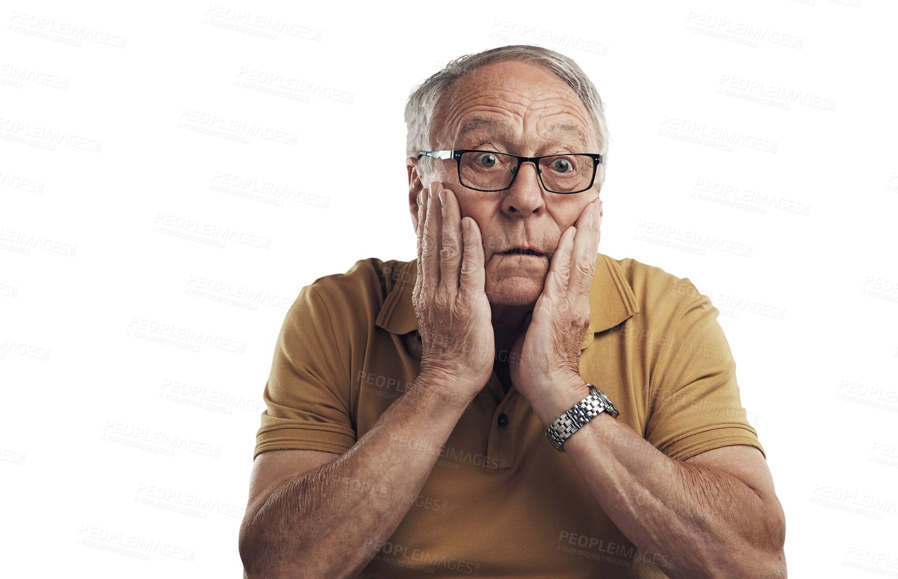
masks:
<svg viewBox="0 0 898 579"><path fill-rule="evenodd" d="M738 478L675 461L605 413L565 451L603 511L666 575L779 576L778 510Z"/></svg>

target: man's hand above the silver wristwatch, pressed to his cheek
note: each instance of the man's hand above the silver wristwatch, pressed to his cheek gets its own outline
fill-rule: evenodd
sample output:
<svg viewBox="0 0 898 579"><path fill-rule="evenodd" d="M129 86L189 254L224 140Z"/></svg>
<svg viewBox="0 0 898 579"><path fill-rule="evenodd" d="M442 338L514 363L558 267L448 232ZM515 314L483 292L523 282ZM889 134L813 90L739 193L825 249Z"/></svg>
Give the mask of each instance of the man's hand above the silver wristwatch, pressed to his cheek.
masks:
<svg viewBox="0 0 898 579"><path fill-rule="evenodd" d="M589 328L601 213L595 199L561 234L542 294L512 348L512 383L547 426L589 394L580 378L580 344Z"/></svg>

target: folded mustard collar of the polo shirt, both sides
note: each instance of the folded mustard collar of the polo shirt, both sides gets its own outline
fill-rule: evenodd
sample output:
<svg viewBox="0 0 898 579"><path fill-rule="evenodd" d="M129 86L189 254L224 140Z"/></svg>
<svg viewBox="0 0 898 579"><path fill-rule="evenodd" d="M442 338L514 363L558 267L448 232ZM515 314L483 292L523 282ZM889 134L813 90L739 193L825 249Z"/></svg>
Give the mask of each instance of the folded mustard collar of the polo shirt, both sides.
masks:
<svg viewBox="0 0 898 579"><path fill-rule="evenodd" d="M397 277L399 281L389 290L374 323L393 334L407 334L418 329L418 316L411 303L418 277L418 259L402 265ZM589 329L580 345L581 350L592 343L594 334L617 326L639 311L636 296L623 276L620 264L603 253L597 254L595 259L589 311Z"/></svg>

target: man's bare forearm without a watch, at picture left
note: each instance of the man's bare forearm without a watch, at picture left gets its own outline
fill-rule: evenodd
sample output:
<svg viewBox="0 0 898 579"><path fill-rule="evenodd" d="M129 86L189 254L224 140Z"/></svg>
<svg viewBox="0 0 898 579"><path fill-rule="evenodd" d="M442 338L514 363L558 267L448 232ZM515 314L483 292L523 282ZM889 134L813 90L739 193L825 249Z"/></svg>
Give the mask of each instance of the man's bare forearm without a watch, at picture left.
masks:
<svg viewBox="0 0 898 579"><path fill-rule="evenodd" d="M242 533L248 576L354 577L367 565L409 512L464 411L433 386L419 376L348 452L269 496Z"/></svg>

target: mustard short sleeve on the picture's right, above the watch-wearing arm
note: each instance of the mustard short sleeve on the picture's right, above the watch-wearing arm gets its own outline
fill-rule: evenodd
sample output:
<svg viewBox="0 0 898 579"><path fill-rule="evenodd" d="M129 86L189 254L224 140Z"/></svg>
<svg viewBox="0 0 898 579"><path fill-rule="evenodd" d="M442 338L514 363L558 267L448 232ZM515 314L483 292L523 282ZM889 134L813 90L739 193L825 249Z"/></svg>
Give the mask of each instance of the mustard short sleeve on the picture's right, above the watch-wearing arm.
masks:
<svg viewBox="0 0 898 579"><path fill-rule="evenodd" d="M719 311L708 296L699 295L663 335L649 381L646 439L680 461L734 444L753 446L766 458L742 407Z"/></svg>

